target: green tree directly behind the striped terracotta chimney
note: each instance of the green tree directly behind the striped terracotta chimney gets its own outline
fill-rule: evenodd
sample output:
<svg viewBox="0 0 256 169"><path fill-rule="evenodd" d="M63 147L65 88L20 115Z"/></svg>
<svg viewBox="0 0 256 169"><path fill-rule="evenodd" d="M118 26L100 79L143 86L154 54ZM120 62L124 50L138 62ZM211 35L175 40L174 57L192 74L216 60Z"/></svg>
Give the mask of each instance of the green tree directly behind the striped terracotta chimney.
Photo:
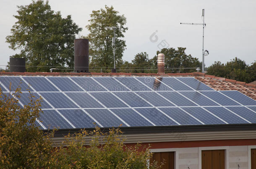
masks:
<svg viewBox="0 0 256 169"><path fill-rule="evenodd" d="M181 69L166 69L166 72L194 72L195 68L201 67L201 62L199 62L198 58L193 58L190 54L187 55L185 53L186 48L178 47L178 50L175 48L162 48L161 51L157 51L157 55L159 53L165 54L165 67L166 68L181 68ZM157 55L152 58L152 62L155 67L157 67ZM191 68L191 69L186 69Z"/></svg>

